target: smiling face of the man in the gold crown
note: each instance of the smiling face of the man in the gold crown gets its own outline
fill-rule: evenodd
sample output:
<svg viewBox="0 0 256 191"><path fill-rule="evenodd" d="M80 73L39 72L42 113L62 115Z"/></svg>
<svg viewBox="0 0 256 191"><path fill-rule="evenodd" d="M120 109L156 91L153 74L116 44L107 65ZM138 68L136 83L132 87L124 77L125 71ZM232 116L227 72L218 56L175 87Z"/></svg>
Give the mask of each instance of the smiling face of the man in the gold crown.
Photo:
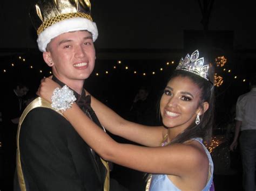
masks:
<svg viewBox="0 0 256 191"><path fill-rule="evenodd" d="M52 39L44 60L56 77L66 83L84 82L95 66L95 47L87 31L60 34Z"/></svg>

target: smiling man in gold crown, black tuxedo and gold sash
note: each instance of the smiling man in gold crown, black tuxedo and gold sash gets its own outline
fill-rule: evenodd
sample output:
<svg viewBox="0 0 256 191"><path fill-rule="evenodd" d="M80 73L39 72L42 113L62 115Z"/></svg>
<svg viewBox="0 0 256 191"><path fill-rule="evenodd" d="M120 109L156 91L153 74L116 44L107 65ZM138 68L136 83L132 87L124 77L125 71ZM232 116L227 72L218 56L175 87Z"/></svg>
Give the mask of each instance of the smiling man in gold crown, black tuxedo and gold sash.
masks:
<svg viewBox="0 0 256 191"><path fill-rule="evenodd" d="M30 17L53 80L71 88L80 108L102 128L83 89L95 66L98 36L90 9L89 0L40 0ZM109 190L107 163L41 97L23 112L17 148L16 190Z"/></svg>

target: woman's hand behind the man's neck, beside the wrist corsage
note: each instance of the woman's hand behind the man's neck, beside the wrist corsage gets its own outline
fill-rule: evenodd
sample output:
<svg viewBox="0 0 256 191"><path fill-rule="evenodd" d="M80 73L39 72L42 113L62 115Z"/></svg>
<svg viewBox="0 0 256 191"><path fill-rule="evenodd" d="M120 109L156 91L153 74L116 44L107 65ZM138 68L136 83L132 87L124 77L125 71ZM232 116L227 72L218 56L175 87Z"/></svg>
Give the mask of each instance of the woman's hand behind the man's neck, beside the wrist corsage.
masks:
<svg viewBox="0 0 256 191"><path fill-rule="evenodd" d="M37 95L44 98L45 100L51 102L51 96L53 90L60 88L59 84L53 81L50 77L45 77L41 80L41 84L37 90Z"/></svg>

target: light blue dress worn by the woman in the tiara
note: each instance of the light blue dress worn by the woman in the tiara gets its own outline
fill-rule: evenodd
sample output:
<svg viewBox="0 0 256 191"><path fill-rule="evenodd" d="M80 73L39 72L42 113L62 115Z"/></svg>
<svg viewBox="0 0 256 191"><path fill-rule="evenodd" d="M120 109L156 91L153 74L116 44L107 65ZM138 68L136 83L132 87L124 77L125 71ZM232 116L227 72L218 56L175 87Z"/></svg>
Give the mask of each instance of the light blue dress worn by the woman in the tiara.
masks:
<svg viewBox="0 0 256 191"><path fill-rule="evenodd" d="M211 186L212 186L211 190L214 190L214 187L212 185L212 183L213 183L213 162L212 162L211 154L208 152L207 148L204 146L201 138L196 138L194 140L197 140L201 145L203 145L204 150L205 150L208 160L209 160L210 178L208 179L208 182L207 182L206 186L204 187L203 191L210 190ZM172 181L167 177L166 174L153 174L149 190L150 191L165 191L165 190L166 191L167 190L180 191L180 189L177 188L172 183Z"/></svg>

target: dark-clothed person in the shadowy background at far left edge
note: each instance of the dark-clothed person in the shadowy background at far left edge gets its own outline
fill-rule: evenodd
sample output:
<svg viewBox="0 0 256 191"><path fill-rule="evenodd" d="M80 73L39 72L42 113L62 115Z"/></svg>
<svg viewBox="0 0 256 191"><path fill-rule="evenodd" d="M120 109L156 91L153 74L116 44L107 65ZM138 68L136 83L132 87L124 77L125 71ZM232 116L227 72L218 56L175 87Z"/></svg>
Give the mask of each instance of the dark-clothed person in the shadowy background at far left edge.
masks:
<svg viewBox="0 0 256 191"><path fill-rule="evenodd" d="M3 189L13 189L13 180L15 172L15 155L16 155L16 133L24 110L24 96L28 93L29 88L21 82L15 83L15 86L5 91L2 100L2 139L4 151L4 182Z"/></svg>

